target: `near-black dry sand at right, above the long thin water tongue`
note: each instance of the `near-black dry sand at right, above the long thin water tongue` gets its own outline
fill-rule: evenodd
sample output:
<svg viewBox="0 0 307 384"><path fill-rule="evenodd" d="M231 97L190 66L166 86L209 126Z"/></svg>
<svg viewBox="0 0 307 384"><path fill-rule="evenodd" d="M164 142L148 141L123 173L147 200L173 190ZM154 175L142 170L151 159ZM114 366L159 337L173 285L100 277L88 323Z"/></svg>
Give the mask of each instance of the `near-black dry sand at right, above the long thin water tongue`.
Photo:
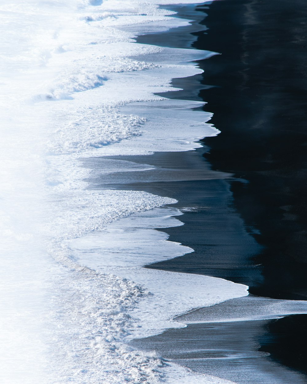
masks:
<svg viewBox="0 0 307 384"><path fill-rule="evenodd" d="M264 249L264 282L250 292L307 297L307 2L223 0L206 10L196 48L201 91L221 134L205 139L213 169L233 172L234 205Z"/></svg>

